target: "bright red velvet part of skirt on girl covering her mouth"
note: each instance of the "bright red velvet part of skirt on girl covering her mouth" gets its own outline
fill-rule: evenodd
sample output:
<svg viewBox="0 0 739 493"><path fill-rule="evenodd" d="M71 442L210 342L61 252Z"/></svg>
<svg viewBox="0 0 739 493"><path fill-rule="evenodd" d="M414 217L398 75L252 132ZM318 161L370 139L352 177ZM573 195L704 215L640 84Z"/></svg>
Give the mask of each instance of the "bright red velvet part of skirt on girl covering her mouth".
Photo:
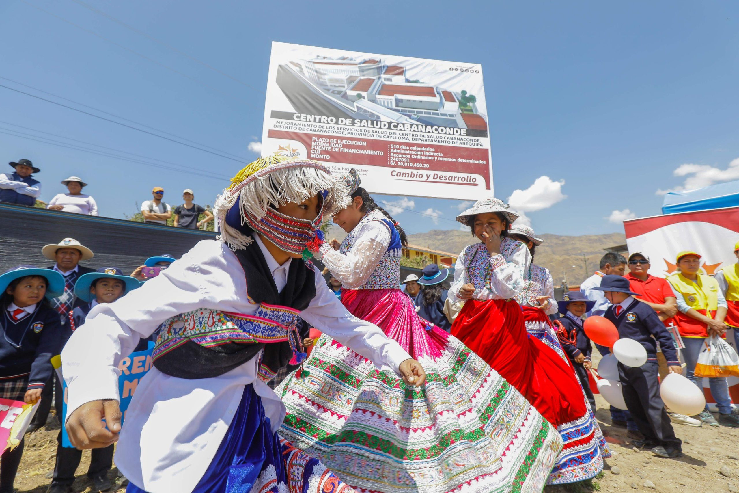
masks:
<svg viewBox="0 0 739 493"><path fill-rule="evenodd" d="M555 426L588 414L571 367L551 347L528 336L515 301L470 299L452 336L483 358Z"/></svg>

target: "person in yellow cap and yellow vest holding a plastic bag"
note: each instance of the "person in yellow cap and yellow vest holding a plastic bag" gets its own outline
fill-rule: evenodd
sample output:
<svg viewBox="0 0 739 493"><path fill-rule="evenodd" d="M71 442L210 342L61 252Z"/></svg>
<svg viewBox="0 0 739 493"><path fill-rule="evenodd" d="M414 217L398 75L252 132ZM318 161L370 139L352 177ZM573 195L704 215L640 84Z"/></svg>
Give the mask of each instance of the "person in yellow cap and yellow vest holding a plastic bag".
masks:
<svg viewBox="0 0 739 493"><path fill-rule="evenodd" d="M695 376L698 354L704 347L708 336L723 336L726 332L726 299L716 279L698 273L701 268L701 255L695 251L681 251L675 261L680 272L667 278L675 291L678 314L675 324L683 339L683 356L687 363L687 378L703 391L703 378ZM711 426L739 426L739 415L732 410L729 386L726 378L709 378L711 394L718 407L718 421L708 407L698 415L698 419Z"/></svg>

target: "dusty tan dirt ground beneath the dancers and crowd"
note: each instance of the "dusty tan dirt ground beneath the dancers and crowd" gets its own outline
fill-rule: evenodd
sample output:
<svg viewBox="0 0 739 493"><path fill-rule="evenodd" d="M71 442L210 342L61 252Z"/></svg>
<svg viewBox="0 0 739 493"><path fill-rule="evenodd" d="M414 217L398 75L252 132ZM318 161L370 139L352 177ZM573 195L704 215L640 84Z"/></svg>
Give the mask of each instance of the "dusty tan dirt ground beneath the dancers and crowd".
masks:
<svg viewBox="0 0 739 493"><path fill-rule="evenodd" d="M739 492L739 429L674 425L675 434L684 442L684 455L678 459L663 459L630 446L626 430L610 426L605 400L596 395L596 402L599 408L596 417L610 443L613 457L606 460L604 472L596 479L567 486L549 486L545 493ZM47 428L27 435L26 449L16 477L18 492L47 491L51 479L46 476L54 469L58 431L59 425L52 415ZM86 477L89 458L89 452L82 455L75 492L92 492ZM722 466L726 466L723 472L729 477L721 473ZM116 469L110 477L117 482L110 491L123 493L125 485L120 484ZM652 486L648 486L649 482Z"/></svg>

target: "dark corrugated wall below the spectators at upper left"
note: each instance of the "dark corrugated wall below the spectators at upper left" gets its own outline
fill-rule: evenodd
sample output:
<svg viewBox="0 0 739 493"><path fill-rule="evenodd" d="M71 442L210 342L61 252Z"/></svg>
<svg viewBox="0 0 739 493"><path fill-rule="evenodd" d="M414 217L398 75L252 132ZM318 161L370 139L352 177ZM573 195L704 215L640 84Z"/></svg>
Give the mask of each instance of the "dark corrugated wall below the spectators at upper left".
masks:
<svg viewBox="0 0 739 493"><path fill-rule="evenodd" d="M41 247L67 237L95 253L95 258L81 265L115 265L131 273L149 256L171 254L179 258L215 234L0 203L0 273L19 264L53 265L41 255Z"/></svg>

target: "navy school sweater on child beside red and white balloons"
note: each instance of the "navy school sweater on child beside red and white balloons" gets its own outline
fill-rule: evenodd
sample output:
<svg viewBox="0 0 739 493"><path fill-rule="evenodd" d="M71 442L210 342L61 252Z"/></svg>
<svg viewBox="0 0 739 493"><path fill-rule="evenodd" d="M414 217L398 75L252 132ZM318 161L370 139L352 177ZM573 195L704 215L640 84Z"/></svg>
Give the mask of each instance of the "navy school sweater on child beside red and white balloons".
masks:
<svg viewBox="0 0 739 493"><path fill-rule="evenodd" d="M636 298L631 300L621 310L619 316L616 316L616 305L610 305L605 312L605 318L613 322L619 330L619 337L638 341L647 350L649 361L657 361L657 341L659 341L667 365L680 366L675 341L657 316L657 312Z"/></svg>

